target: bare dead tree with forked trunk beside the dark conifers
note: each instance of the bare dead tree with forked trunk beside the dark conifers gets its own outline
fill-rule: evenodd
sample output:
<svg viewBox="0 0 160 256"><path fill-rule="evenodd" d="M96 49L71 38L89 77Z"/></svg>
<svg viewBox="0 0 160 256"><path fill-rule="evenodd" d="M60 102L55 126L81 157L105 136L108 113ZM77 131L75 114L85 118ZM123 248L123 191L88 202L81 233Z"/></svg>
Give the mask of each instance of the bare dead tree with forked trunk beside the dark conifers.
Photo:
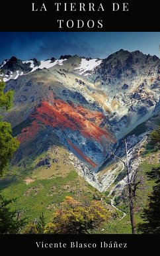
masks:
<svg viewBox="0 0 160 256"><path fill-rule="evenodd" d="M127 174L127 184L128 184L128 203L130 208L130 223L132 226L132 234L136 233L135 224L134 224L134 199L136 198L136 190L138 189L138 181L137 172L134 172L130 175L130 153L133 151L133 148L128 150L128 143L126 139L124 140L125 143L125 151L126 151L126 160L121 159L120 157L116 156L112 151L110 153L114 155L114 158L123 162L124 167L126 168Z"/></svg>

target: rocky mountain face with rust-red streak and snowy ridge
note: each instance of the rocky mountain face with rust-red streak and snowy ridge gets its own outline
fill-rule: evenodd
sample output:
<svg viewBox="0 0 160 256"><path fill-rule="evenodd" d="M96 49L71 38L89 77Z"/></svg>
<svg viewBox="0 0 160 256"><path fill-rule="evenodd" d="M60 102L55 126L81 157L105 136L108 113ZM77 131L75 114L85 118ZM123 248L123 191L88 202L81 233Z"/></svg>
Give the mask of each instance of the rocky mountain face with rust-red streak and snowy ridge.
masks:
<svg viewBox="0 0 160 256"><path fill-rule="evenodd" d="M122 138L159 111L160 60L139 51L120 50L104 60L12 57L0 68L5 90L15 90L5 119L20 141L20 159L26 149L34 153L34 144L42 153L48 143L60 143L94 176L112 160L110 151L121 154Z"/></svg>

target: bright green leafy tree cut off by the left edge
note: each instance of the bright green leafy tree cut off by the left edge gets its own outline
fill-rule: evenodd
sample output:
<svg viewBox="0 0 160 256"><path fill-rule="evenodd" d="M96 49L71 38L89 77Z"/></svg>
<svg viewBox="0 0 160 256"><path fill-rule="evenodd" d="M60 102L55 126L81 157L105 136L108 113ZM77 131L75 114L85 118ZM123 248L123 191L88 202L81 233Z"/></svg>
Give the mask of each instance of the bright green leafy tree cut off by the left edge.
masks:
<svg viewBox="0 0 160 256"><path fill-rule="evenodd" d="M7 111L12 106L13 91L4 93L4 88L5 83L0 80L0 110ZM18 147L19 142L12 137L11 124L0 121L0 175Z"/></svg>

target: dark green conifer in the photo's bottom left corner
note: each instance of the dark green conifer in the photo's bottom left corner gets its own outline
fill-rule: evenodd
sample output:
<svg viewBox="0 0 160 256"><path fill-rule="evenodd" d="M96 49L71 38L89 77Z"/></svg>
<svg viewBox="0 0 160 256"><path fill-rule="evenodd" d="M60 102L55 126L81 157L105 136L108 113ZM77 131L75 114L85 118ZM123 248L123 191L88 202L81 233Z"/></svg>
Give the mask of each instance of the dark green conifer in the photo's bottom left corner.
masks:
<svg viewBox="0 0 160 256"><path fill-rule="evenodd" d="M6 200L0 194L0 234L20 233L26 225L26 218L22 219L16 210L11 210L9 205L13 202L15 199Z"/></svg>

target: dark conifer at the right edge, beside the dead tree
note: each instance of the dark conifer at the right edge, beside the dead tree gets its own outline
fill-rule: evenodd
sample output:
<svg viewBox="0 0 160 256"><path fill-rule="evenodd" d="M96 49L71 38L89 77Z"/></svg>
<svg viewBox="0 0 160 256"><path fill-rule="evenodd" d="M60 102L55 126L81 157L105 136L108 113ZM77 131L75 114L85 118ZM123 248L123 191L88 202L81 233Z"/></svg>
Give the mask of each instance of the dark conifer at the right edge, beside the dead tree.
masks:
<svg viewBox="0 0 160 256"><path fill-rule="evenodd" d="M152 168L147 173L149 180L155 180L153 192L148 197L147 207L143 210L141 218L145 221L138 225L142 233L160 233L160 167Z"/></svg>

